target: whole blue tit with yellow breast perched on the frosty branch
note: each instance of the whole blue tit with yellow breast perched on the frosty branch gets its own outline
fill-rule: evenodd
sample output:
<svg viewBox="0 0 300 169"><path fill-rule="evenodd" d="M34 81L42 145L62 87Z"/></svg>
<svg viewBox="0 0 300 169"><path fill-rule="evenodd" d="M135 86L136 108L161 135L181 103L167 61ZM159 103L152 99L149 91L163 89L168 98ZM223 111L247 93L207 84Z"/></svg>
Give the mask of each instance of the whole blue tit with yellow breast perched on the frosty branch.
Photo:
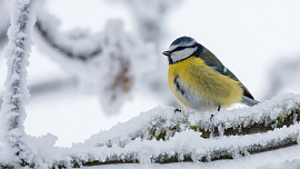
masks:
<svg viewBox="0 0 300 169"><path fill-rule="evenodd" d="M212 52L194 39L180 37L162 53L169 60L169 88L184 107L220 111L221 107L236 102L250 107L259 102Z"/></svg>

